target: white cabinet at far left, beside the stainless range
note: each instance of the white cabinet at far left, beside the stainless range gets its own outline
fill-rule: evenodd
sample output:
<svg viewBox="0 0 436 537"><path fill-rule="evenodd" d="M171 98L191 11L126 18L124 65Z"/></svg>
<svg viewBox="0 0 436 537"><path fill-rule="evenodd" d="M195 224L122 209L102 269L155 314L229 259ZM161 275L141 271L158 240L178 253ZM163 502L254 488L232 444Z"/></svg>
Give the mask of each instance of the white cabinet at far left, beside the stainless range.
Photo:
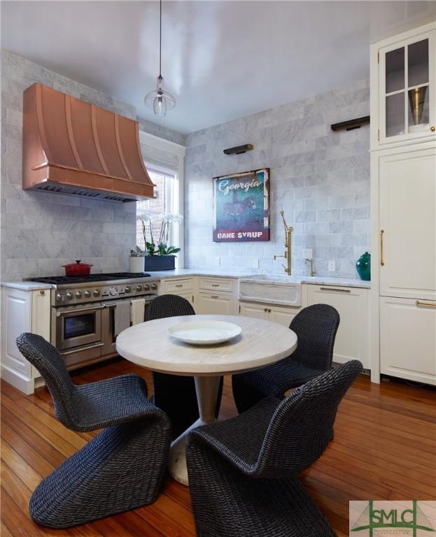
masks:
<svg viewBox="0 0 436 537"><path fill-rule="evenodd" d="M1 375L25 394L34 392L39 376L17 348L15 339L32 332L50 341L50 290L2 288Z"/></svg>

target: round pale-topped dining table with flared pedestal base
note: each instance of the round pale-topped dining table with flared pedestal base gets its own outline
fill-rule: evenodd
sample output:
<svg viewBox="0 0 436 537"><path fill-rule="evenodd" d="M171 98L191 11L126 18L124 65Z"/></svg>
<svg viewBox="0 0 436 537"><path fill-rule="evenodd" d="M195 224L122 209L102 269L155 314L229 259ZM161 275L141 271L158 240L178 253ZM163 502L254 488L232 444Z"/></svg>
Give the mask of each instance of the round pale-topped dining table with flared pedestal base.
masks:
<svg viewBox="0 0 436 537"><path fill-rule="evenodd" d="M239 324L237 338L219 345L189 345L168 334L168 328L186 321L217 320ZM171 444L169 473L188 485L185 436L191 429L216 421L215 410L222 375L252 371L286 358L297 348L295 332L276 322L231 315L186 315L135 324L123 330L116 349L139 366L195 378L199 420ZM183 401L180 401L183 405Z"/></svg>

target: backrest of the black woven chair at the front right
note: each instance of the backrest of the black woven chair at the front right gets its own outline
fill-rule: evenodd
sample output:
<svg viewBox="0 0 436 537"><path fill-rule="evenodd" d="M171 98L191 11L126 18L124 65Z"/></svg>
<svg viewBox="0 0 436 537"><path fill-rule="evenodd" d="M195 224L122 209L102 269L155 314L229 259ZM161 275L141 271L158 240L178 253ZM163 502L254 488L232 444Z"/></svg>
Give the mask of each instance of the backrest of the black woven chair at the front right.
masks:
<svg viewBox="0 0 436 537"><path fill-rule="evenodd" d="M332 440L337 407L362 370L360 361L348 361L283 399L269 423L253 474L295 475L321 457Z"/></svg>

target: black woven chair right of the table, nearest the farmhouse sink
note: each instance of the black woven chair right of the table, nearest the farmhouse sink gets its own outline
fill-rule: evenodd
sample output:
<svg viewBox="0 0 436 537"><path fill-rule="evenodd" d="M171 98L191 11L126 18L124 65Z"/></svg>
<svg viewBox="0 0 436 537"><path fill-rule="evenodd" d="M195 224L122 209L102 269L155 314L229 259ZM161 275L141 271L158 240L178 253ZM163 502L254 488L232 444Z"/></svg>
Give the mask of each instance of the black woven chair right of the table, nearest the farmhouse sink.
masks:
<svg viewBox="0 0 436 537"><path fill-rule="evenodd" d="M266 396L283 399L288 389L328 371L338 327L339 313L328 304L314 304L297 313L289 327L298 338L292 355L271 366L232 376L239 413Z"/></svg>

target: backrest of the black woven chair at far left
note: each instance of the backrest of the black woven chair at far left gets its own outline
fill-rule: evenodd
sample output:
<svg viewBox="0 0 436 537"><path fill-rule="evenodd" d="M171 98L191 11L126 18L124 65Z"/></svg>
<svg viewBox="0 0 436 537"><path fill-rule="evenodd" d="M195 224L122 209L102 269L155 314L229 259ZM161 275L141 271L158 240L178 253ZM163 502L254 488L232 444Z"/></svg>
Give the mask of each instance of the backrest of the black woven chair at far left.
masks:
<svg viewBox="0 0 436 537"><path fill-rule="evenodd" d="M57 420L69 429L74 429L73 393L76 386L66 369L57 348L36 334L24 332L17 336L17 347L21 354L38 369L45 380L55 406Z"/></svg>

